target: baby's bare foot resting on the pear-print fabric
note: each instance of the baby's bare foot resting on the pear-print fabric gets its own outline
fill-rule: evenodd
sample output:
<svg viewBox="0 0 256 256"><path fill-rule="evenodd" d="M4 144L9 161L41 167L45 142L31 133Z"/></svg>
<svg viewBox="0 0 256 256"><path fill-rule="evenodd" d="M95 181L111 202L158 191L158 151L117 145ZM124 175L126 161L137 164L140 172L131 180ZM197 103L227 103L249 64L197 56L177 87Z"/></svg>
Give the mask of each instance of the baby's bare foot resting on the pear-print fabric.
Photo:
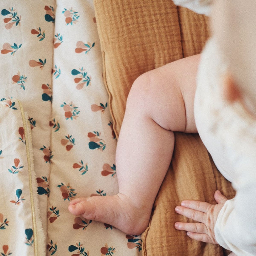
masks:
<svg viewBox="0 0 256 256"><path fill-rule="evenodd" d="M85 219L110 224L126 234L140 235L146 229L151 207L138 207L126 195L77 198L70 202L69 211Z"/></svg>

